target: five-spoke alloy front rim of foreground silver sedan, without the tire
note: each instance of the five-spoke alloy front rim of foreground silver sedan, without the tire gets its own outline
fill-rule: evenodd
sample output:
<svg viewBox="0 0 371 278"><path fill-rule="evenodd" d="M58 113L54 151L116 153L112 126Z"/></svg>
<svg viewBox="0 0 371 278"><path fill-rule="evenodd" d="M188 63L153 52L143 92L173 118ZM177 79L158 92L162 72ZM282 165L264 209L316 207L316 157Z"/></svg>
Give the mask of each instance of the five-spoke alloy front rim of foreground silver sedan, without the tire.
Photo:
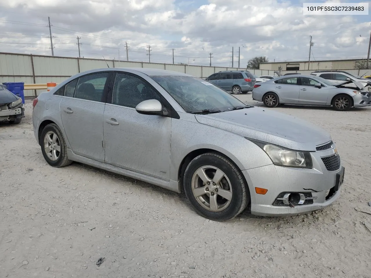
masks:
<svg viewBox="0 0 371 278"><path fill-rule="evenodd" d="M215 166L202 166L192 176L192 193L208 211L219 212L232 200L232 186L226 174Z"/></svg>

